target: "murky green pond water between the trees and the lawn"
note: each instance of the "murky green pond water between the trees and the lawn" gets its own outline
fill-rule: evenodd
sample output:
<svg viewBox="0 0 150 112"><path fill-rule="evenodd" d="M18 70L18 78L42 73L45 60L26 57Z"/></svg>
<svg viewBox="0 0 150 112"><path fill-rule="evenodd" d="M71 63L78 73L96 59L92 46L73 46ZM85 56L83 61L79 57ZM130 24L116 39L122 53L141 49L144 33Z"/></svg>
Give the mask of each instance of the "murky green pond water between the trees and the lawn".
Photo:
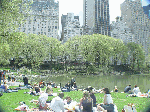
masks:
<svg viewBox="0 0 150 112"><path fill-rule="evenodd" d="M131 84L132 89L137 85L141 92L146 92L150 89L150 76L149 75L130 75L130 76L74 76L78 88L86 88L88 86L95 87L96 89L108 87L113 90L115 86L119 92L123 92L124 88ZM72 76L49 76L44 78L45 82L55 82L57 85L60 83L64 86L68 81L71 81ZM41 80L41 79L39 79Z"/></svg>

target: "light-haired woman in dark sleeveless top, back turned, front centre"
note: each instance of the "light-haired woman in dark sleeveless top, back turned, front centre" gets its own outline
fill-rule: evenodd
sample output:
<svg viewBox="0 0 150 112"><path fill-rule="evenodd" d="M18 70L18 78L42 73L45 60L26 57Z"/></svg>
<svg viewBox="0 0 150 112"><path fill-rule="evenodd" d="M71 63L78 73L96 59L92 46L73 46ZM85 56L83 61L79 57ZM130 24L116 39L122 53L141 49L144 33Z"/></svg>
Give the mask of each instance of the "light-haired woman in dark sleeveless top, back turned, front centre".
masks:
<svg viewBox="0 0 150 112"><path fill-rule="evenodd" d="M83 93L83 98L80 100L79 109L83 112L92 112L93 108L93 99L90 97L88 91Z"/></svg>

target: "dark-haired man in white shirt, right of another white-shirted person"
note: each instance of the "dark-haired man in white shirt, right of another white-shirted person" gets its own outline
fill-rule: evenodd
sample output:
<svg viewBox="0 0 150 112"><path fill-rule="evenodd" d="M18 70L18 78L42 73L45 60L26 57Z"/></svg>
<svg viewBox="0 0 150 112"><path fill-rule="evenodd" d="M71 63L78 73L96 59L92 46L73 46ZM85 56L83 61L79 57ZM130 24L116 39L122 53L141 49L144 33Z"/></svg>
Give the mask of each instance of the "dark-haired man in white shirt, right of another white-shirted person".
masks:
<svg viewBox="0 0 150 112"><path fill-rule="evenodd" d="M59 93L59 95L51 101L50 108L55 112L64 112L64 93Z"/></svg>

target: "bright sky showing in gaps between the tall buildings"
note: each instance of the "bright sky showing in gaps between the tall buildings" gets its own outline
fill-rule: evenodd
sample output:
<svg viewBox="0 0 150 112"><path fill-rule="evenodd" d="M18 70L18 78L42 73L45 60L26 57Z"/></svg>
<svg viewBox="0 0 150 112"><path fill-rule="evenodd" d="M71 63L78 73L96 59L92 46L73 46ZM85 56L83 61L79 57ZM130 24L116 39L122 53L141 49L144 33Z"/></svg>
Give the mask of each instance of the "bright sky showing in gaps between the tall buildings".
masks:
<svg viewBox="0 0 150 112"><path fill-rule="evenodd" d="M61 25L61 16L67 15L67 13L74 13L75 16L79 16L80 25L83 25L83 0L55 0L59 1L59 26ZM109 0L110 9L110 23L115 21L117 16L121 16L120 4L125 0ZM148 1L141 0L142 6L148 5ZM115 13L114 13L115 12Z"/></svg>

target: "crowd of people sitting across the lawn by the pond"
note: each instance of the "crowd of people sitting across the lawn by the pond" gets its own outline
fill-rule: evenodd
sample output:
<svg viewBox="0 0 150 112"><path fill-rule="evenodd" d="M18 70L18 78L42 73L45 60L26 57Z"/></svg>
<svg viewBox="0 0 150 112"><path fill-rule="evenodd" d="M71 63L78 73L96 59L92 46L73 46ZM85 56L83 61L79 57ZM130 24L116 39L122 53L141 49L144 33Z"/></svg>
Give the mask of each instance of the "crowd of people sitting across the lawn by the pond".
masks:
<svg viewBox="0 0 150 112"><path fill-rule="evenodd" d="M38 84L34 84L33 86L31 86L31 84L28 83L28 78L26 76L23 77L23 82L24 82L24 86L19 85L19 87L28 87L28 88L30 87L31 88L30 95L39 95L39 99L35 100L35 102L39 104L39 110L52 110L55 112L64 111L65 110L64 105L69 105L72 102L72 99L70 96L67 96L65 99L63 99L64 94L65 94L63 92L70 92L71 90L78 90L77 85L76 85L76 80L73 77L70 82L67 82L65 84L64 87L61 87L61 84L60 84L60 88L62 92L60 92L57 97L53 98L52 101L47 101L48 96L53 95L52 88L57 88L55 82L45 83L43 80L41 80ZM45 91L41 91L41 88L44 88L45 86L46 86ZM2 88L4 92L8 92L8 90L10 90L9 86L6 84L5 79L4 79L4 84L2 84L0 88ZM67 91L64 91L64 88L66 88ZM118 92L118 91L119 90L117 86L115 86L114 92ZM78 103L78 108L76 108L75 111L76 112L80 112L80 111L92 112L93 107L95 107L97 111L116 112L117 107L113 103L111 92L109 91L109 89L103 88L101 93L102 92L104 93L103 103L97 104L94 88L88 87L84 89L83 97L80 99L80 102ZM137 87L137 85L134 86L133 90L131 89L131 85L128 85L124 89L124 93L129 93L130 95L138 96L139 92L140 92L140 89L139 87Z"/></svg>

